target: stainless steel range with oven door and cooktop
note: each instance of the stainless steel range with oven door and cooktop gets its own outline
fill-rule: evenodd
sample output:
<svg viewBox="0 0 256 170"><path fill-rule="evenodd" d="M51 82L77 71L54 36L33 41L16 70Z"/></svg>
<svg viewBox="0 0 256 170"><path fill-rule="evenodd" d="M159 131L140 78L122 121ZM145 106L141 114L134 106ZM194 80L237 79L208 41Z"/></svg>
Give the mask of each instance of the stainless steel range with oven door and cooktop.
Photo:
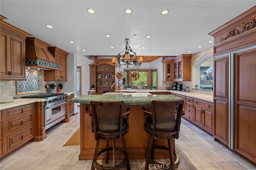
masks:
<svg viewBox="0 0 256 170"><path fill-rule="evenodd" d="M67 95L64 93L39 93L22 96L21 98L41 98L47 100L44 106L45 130L65 119Z"/></svg>

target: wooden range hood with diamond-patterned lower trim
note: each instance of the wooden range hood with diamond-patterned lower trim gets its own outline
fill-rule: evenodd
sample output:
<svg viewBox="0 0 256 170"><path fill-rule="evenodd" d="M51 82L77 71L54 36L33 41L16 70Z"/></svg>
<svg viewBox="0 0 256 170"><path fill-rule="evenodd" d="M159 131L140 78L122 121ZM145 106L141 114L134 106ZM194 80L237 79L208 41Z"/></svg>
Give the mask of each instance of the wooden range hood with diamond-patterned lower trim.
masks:
<svg viewBox="0 0 256 170"><path fill-rule="evenodd" d="M48 51L50 44L34 37L26 38L26 67L61 70L62 65Z"/></svg>

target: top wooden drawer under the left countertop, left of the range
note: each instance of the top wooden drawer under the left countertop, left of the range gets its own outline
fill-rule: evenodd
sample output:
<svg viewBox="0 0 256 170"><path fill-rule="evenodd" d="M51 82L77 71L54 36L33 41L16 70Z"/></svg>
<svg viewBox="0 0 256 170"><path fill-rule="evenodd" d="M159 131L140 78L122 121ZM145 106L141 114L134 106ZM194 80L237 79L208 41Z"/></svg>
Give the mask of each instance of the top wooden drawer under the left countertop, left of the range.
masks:
<svg viewBox="0 0 256 170"><path fill-rule="evenodd" d="M14 116L23 115L24 113L26 113L28 111L34 111L34 103L29 104L29 105L14 107L12 109L7 109L6 110L6 117L11 118L11 117L14 117Z"/></svg>

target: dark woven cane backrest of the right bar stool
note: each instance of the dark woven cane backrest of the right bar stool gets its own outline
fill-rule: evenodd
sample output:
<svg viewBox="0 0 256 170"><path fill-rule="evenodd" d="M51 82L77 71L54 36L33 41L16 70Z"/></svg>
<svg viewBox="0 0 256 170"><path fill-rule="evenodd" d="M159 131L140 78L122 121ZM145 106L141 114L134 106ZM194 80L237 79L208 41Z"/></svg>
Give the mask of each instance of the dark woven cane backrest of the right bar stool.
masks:
<svg viewBox="0 0 256 170"><path fill-rule="evenodd" d="M151 102L155 137L169 138L179 132L183 103L183 100Z"/></svg>

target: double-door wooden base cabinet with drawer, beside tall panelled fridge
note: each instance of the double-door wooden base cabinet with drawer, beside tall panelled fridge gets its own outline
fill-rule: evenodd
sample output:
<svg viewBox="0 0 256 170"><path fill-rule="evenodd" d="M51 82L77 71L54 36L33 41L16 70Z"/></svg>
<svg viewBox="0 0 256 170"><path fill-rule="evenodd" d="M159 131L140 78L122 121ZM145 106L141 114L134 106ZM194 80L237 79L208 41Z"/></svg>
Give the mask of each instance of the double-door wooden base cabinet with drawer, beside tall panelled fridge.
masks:
<svg viewBox="0 0 256 170"><path fill-rule="evenodd" d="M194 99L194 123L213 134L213 104Z"/></svg>

